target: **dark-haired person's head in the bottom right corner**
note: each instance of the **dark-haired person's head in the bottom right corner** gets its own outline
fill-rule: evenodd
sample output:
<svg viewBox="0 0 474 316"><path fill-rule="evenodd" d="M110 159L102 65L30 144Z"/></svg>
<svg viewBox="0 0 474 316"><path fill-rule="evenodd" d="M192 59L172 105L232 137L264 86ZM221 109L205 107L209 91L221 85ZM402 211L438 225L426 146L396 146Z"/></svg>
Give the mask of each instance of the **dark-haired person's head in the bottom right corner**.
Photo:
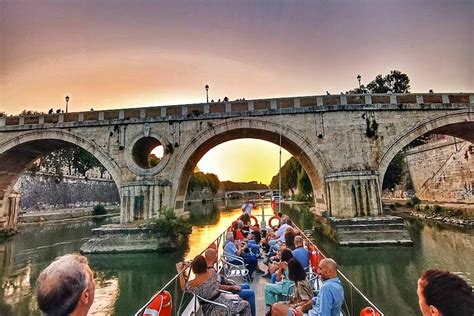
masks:
<svg viewBox="0 0 474 316"><path fill-rule="evenodd" d="M472 287L455 274L425 271L418 280L416 293L423 316L474 315Z"/></svg>

